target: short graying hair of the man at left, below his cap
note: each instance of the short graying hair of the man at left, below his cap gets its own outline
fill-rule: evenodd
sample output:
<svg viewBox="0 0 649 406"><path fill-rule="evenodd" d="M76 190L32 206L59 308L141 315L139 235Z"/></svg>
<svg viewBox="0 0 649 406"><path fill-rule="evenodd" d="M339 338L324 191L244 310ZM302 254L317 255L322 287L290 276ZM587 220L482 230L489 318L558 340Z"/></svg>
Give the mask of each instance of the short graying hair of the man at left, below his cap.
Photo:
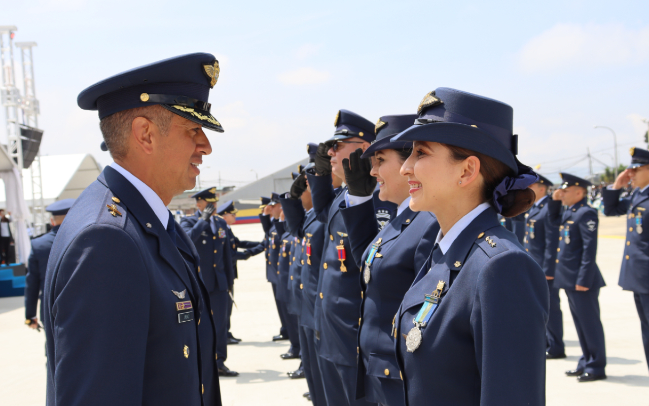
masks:
<svg viewBox="0 0 649 406"><path fill-rule="evenodd" d="M169 133L173 113L158 105L129 108L104 117L99 121L99 129L104 136L106 147L113 159L124 159L129 152L129 136L133 120L144 117L153 121L162 135Z"/></svg>

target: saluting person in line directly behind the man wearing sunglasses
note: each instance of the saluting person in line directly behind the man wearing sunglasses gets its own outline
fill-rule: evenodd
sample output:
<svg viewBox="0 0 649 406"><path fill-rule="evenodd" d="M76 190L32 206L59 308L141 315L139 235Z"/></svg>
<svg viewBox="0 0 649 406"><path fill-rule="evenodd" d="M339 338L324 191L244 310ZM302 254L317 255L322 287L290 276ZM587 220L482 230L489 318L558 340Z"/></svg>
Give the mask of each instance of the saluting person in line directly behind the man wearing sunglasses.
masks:
<svg viewBox="0 0 649 406"><path fill-rule="evenodd" d="M309 143L307 152L309 164L293 180L291 191L280 198L286 227L291 235L302 240L304 253L300 260L300 292L302 309L300 311L300 349L302 350L302 369L309 388L304 396L313 405L326 405L323 380L318 364L318 344L315 331L315 299L320 275L321 258L324 245L324 224L315 218L311 188L306 180L306 170L315 166L317 144ZM339 181L332 177L333 182ZM335 188L336 185L334 185ZM337 185L339 186L339 185ZM296 257L297 258L297 257Z"/></svg>

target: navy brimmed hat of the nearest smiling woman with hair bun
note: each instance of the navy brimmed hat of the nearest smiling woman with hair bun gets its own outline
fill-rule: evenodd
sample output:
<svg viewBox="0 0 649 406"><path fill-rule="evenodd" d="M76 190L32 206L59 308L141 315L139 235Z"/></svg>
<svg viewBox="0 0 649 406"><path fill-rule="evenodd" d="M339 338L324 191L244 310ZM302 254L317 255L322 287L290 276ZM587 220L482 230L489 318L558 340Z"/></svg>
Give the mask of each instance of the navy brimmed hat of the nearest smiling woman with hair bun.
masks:
<svg viewBox="0 0 649 406"><path fill-rule="evenodd" d="M461 90L437 88L424 96L417 112L415 125L393 141L440 142L469 149L499 160L518 175L518 136L512 133L511 106Z"/></svg>

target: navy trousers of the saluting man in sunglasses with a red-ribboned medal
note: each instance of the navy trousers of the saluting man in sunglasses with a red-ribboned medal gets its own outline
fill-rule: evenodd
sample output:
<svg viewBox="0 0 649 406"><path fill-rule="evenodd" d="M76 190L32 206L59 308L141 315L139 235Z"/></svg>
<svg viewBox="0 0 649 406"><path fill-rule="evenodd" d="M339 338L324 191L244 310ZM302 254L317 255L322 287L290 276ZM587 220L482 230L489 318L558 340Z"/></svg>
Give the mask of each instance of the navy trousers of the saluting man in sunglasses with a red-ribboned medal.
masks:
<svg viewBox="0 0 649 406"><path fill-rule="evenodd" d="M356 366L334 364L323 357L319 357L318 361L328 406L376 405L365 398L356 400Z"/></svg>

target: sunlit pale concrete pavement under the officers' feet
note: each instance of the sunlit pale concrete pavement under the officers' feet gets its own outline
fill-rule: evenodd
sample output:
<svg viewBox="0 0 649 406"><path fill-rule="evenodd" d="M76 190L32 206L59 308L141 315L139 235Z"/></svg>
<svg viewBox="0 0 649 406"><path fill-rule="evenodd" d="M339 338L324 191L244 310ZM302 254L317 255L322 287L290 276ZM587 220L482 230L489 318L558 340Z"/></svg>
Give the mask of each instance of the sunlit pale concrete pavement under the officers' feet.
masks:
<svg viewBox="0 0 649 406"><path fill-rule="evenodd" d="M546 365L546 403L576 405L648 405L649 370L644 361L640 324L631 292L617 286L624 249L624 218L600 218L597 262L608 286L600 292L606 335L606 381L578 383L563 374L581 355L565 294L561 293L567 359ZM236 225L241 240L262 240L258 224ZM288 379L299 360L283 361L288 341L272 342L279 318L271 286L265 280L263 254L239 262L235 285L238 309L232 312L232 333L243 342L228 346L226 365L241 375L221 379L223 405L308 405L304 379ZM0 400L3 405L40 406L45 403L44 334L23 324L23 298L0 299Z"/></svg>

